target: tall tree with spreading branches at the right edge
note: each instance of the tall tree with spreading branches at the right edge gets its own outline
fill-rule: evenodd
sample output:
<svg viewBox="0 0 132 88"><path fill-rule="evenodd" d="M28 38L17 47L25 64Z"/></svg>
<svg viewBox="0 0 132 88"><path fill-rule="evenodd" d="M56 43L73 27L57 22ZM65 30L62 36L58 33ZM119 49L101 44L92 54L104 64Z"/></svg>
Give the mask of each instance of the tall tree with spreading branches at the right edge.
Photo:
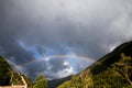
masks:
<svg viewBox="0 0 132 88"><path fill-rule="evenodd" d="M121 59L118 63L114 63L113 69L123 77L129 85L132 86L132 58L130 56L125 56L123 53L121 54Z"/></svg>

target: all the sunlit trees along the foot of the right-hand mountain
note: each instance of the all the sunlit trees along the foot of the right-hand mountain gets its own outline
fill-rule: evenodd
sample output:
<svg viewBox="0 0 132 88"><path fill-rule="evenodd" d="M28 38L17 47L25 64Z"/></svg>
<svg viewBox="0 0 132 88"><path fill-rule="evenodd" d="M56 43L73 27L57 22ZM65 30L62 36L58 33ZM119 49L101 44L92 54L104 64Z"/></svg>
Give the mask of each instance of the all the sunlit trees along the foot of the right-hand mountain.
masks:
<svg viewBox="0 0 132 88"><path fill-rule="evenodd" d="M106 70L96 75L84 70L58 88L132 88L132 57L122 53Z"/></svg>

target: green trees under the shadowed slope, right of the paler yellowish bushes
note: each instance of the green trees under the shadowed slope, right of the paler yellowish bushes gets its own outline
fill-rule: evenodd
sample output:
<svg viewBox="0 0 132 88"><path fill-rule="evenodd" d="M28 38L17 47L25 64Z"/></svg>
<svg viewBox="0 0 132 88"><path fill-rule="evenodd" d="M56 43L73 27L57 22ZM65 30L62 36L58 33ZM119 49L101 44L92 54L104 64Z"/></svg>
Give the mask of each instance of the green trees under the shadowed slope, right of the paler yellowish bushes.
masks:
<svg viewBox="0 0 132 88"><path fill-rule="evenodd" d="M119 62L92 77L95 88L132 87L132 58L121 54Z"/></svg>

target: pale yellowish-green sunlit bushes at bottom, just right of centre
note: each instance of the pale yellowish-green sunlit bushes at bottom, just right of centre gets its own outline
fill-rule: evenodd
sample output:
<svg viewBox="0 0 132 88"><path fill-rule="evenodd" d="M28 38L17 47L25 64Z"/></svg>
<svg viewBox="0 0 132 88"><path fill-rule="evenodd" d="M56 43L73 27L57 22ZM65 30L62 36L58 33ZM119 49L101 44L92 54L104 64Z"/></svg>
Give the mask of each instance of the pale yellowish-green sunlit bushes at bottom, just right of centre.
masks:
<svg viewBox="0 0 132 88"><path fill-rule="evenodd" d="M90 70L81 72L80 74L73 76L70 80L65 81L57 88L92 88L94 82Z"/></svg>

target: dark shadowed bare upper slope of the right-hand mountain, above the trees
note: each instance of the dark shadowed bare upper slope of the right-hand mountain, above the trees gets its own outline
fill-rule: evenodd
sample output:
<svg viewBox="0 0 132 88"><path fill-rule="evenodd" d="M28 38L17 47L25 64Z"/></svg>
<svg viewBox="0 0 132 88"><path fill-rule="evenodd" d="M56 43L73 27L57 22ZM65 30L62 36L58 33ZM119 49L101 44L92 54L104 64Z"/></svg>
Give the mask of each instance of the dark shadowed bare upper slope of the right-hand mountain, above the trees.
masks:
<svg viewBox="0 0 132 88"><path fill-rule="evenodd" d="M88 68L91 69L94 75L106 70L111 64L118 62L120 59L120 54L124 53L127 56L132 57L132 41L128 43L123 43L122 45L118 46L113 52L107 54L102 58L98 59Z"/></svg>

